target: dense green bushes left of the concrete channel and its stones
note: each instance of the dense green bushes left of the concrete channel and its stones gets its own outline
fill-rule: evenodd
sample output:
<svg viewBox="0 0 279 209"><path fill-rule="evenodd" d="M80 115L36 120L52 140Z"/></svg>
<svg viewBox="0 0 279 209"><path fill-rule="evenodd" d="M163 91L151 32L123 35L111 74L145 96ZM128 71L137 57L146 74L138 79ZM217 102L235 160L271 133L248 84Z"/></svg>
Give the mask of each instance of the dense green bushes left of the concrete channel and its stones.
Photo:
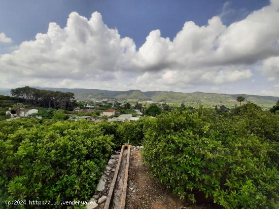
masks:
<svg viewBox="0 0 279 209"><path fill-rule="evenodd" d="M31 118L0 125L1 208L7 207L3 200L90 199L112 153L112 136L87 121Z"/></svg>

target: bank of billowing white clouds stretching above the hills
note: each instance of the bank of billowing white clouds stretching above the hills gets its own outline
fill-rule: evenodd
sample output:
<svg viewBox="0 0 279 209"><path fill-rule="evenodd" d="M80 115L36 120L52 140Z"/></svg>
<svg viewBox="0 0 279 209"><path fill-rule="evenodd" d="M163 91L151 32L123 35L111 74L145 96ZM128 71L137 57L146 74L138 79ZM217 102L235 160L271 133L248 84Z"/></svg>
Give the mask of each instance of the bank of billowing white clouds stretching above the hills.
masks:
<svg viewBox="0 0 279 209"><path fill-rule="evenodd" d="M279 77L279 1L226 26L219 16L206 25L185 22L173 39L151 31L136 50L130 37L108 28L98 12L69 14L61 28L24 41L0 55L1 83L100 89L187 91L249 79L254 65L266 79Z"/></svg>

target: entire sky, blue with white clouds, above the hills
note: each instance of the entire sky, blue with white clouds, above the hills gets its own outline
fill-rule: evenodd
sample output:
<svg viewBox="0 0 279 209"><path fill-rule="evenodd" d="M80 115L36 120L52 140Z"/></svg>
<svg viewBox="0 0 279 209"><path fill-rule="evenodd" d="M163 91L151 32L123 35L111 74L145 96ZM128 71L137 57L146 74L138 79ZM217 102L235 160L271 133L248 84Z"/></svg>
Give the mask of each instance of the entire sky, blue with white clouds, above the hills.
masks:
<svg viewBox="0 0 279 209"><path fill-rule="evenodd" d="M279 0L0 0L0 88L279 96Z"/></svg>

